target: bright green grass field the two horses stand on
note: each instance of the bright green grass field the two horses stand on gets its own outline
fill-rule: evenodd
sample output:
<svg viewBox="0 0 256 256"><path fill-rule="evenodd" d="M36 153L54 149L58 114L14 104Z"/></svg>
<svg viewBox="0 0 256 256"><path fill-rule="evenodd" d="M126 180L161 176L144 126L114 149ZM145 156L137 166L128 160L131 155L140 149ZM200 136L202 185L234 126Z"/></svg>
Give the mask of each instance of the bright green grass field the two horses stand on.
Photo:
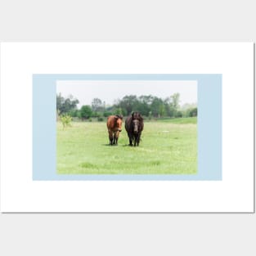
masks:
<svg viewBox="0 0 256 256"><path fill-rule="evenodd" d="M105 122L74 122L57 128L59 174L193 174L197 172L196 118L146 121L138 147L124 128L109 146Z"/></svg>

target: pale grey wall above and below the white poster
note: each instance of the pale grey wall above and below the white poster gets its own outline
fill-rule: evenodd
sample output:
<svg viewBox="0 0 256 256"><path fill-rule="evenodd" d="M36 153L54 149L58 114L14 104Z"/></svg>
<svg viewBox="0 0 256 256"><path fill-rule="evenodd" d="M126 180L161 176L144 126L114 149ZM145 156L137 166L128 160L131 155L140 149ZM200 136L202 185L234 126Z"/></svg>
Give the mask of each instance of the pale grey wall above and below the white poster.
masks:
<svg viewBox="0 0 256 256"><path fill-rule="evenodd" d="M256 41L253 1L2 0L1 41ZM254 255L255 214L1 214L2 255Z"/></svg>

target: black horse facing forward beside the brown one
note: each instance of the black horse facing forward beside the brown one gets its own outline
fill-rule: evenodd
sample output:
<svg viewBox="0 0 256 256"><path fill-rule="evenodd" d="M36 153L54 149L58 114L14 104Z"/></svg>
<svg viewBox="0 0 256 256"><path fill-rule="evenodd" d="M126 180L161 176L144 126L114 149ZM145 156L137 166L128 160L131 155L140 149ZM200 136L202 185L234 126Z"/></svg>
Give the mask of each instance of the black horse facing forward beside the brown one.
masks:
<svg viewBox="0 0 256 256"><path fill-rule="evenodd" d="M129 145L139 146L141 141L141 132L144 128L143 118L139 112L133 112L125 120L125 129L129 137Z"/></svg>

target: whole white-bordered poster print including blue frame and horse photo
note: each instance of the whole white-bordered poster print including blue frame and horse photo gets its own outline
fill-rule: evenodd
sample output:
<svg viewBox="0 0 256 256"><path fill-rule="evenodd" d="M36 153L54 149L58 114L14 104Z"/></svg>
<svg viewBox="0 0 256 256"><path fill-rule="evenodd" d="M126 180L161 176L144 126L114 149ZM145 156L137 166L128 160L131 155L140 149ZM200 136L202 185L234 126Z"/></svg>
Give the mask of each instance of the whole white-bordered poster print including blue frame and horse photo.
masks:
<svg viewBox="0 0 256 256"><path fill-rule="evenodd" d="M206 57L204 51L209 50ZM235 50L240 61L231 67L229 57ZM236 70L246 74L245 88L253 89L252 43L3 43L1 51L6 64L2 92L10 97L7 84L13 86L15 79L25 84L23 90L17 89L20 97L11 107L20 102L28 110L22 115L27 121L20 132L26 129L18 141L31 141L26 143L28 150L20 151L19 146L14 150L17 159L23 155L16 183L27 184L19 195L25 204L17 206L9 197L15 172L2 171L4 211L252 209L249 166L240 178L247 184L243 204L227 206L216 200L227 200L227 188L236 181L236 172L227 168L233 163L231 150L225 153L228 124L222 121L223 117L232 121L231 112L227 115L233 104L227 104L231 101L227 91L232 84L236 98ZM145 58L149 52L150 61ZM21 66L21 60L27 65ZM11 61L16 63L12 70ZM20 76L13 78L11 72ZM29 100L21 101L21 95ZM2 169L17 169L11 165L18 163ZM65 198L67 188L73 200L53 205L52 200ZM38 195L44 203L35 206L31 200ZM138 204L142 199L144 203ZM87 203L80 204L83 200Z"/></svg>

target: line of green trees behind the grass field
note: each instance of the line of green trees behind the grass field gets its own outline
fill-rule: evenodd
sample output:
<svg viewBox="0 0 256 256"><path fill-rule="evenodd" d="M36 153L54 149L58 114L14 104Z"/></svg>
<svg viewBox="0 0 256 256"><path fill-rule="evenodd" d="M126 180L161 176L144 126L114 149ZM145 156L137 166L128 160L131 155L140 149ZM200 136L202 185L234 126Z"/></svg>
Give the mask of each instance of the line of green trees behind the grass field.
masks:
<svg viewBox="0 0 256 256"><path fill-rule="evenodd" d="M70 115L79 119L97 118L99 121L109 115L128 116L132 111L139 111L141 115L151 118L180 118L197 116L197 107L186 104L180 106L180 94L174 93L164 99L152 95L126 95L116 100L111 106L106 106L105 101L99 98L92 99L91 105L78 108L79 100L72 95L62 97L61 93L56 95L57 115Z"/></svg>

